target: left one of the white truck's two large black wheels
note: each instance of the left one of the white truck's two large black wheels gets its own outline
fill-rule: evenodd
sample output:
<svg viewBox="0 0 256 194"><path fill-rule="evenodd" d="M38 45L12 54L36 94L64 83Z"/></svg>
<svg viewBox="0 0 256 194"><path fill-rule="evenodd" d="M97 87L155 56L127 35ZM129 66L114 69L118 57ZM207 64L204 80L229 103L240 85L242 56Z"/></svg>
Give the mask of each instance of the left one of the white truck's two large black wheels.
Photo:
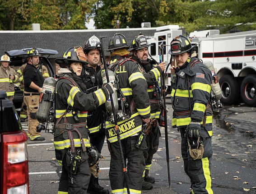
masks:
<svg viewBox="0 0 256 194"><path fill-rule="evenodd" d="M219 80L223 104L237 104L239 102L240 91L237 80L232 75L222 76Z"/></svg>

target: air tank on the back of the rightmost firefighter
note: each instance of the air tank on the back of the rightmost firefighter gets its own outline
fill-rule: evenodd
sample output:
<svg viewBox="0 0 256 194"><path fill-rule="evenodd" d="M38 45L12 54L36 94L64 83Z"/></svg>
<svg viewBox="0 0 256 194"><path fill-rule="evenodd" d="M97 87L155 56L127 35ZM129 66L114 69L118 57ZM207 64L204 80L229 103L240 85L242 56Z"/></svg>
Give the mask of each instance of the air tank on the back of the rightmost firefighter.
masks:
<svg viewBox="0 0 256 194"><path fill-rule="evenodd" d="M211 61L205 61L203 63L212 73L212 83L211 83L211 89L214 92L214 95L216 97L216 100L219 101L222 97L221 95L221 88L219 85L218 75L215 72L214 65Z"/></svg>

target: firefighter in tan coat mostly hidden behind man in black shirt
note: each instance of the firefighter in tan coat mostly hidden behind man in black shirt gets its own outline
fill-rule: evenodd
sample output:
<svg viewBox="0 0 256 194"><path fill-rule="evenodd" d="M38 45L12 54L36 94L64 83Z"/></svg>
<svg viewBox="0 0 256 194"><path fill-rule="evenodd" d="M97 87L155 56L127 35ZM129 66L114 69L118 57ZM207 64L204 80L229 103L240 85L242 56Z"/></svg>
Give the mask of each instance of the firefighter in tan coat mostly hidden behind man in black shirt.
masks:
<svg viewBox="0 0 256 194"><path fill-rule="evenodd" d="M19 88L20 88L21 91L24 91L23 72L24 72L24 69L26 68L26 66L27 66L27 63L21 65L15 73L15 76L18 76L19 83L20 83ZM45 65L42 65L40 63L40 61L39 61L39 64L36 65L36 68L42 73L42 76L44 77L44 79L47 79L47 78L50 77L47 67ZM19 117L20 117L21 122L25 122L25 120L28 117L28 115L27 115L27 106L25 105L24 102L22 102Z"/></svg>

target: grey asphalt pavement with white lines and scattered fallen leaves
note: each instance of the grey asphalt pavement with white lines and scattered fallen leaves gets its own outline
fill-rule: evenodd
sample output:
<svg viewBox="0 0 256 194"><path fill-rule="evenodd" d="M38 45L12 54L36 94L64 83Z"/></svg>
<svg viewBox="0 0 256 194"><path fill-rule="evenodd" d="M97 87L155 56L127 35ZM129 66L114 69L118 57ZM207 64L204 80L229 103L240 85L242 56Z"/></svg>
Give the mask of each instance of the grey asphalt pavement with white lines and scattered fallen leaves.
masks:
<svg viewBox="0 0 256 194"><path fill-rule="evenodd" d="M183 169L181 138L171 128L172 108L167 97L168 147L170 182L166 159L164 128L158 152L154 154L150 175L156 182L152 190L142 194L189 194L190 180ZM214 150L211 174L214 194L256 194L256 108L225 106L214 115L212 145ZM27 122L22 123L27 130ZM30 194L56 194L61 176L53 146L53 135L42 131L42 142L28 140ZM105 141L102 149L105 160L100 161L100 185L109 189L110 153Z"/></svg>

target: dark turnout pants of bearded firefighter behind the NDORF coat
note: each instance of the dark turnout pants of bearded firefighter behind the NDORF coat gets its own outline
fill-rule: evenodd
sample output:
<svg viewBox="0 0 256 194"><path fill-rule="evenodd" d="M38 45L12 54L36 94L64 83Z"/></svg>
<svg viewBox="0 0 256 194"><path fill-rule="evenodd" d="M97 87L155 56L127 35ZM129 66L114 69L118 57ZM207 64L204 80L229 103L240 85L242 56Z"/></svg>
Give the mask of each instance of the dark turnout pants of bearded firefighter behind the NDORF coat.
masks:
<svg viewBox="0 0 256 194"><path fill-rule="evenodd" d="M152 163L152 158L155 152L158 150L158 145L159 145L159 137L161 136L160 134L160 129L159 125L156 125L154 129L152 129L152 132L146 137L146 142L148 148L144 150L143 155L145 158L145 170L150 170L150 166ZM144 177L144 172L143 176Z"/></svg>

